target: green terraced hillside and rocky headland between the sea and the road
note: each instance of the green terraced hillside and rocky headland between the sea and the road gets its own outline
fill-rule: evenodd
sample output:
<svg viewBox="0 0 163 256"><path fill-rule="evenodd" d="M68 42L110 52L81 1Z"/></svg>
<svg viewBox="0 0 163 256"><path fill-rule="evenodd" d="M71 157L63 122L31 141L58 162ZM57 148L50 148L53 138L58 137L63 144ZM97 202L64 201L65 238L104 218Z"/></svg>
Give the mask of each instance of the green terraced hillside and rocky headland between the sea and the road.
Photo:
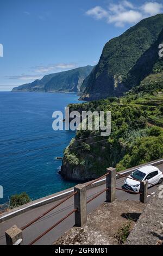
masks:
<svg viewBox="0 0 163 256"><path fill-rule="evenodd" d="M111 135L78 131L65 149L61 168L64 178L94 179L109 166L119 171L163 156L162 76L162 72L149 75L120 98L70 105L80 112L111 111Z"/></svg>

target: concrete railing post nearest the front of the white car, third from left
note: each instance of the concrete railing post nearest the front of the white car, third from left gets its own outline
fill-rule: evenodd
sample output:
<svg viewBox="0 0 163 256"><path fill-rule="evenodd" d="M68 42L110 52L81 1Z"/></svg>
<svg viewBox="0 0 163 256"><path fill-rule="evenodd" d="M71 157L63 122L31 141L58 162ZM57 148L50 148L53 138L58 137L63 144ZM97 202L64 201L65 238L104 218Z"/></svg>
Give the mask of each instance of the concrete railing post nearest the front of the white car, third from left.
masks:
<svg viewBox="0 0 163 256"><path fill-rule="evenodd" d="M109 188L106 191L106 202L111 203L116 199L116 169L109 167L106 172L109 173L106 175L106 188Z"/></svg>

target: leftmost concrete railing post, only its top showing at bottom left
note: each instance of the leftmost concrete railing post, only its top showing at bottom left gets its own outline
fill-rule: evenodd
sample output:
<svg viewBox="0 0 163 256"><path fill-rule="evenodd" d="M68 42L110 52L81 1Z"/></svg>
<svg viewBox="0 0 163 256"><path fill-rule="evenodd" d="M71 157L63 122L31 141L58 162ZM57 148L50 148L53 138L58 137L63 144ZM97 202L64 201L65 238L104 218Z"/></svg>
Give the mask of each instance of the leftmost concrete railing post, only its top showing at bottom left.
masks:
<svg viewBox="0 0 163 256"><path fill-rule="evenodd" d="M14 245L18 240L22 240L22 230L16 225L5 231L5 238L7 245Z"/></svg>

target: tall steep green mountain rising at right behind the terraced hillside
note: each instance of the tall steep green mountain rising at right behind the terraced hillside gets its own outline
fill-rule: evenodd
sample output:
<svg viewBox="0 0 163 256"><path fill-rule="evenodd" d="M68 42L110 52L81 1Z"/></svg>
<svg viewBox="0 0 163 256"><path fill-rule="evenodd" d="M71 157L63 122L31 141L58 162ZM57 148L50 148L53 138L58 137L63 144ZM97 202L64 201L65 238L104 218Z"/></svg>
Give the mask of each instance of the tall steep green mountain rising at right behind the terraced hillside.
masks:
<svg viewBox="0 0 163 256"><path fill-rule="evenodd" d="M155 59L150 56L158 51L157 45L155 51L152 47L158 40L162 27L163 14L158 14L140 21L107 42L98 64L83 81L82 99L121 96L131 87L139 85L155 64Z"/></svg>

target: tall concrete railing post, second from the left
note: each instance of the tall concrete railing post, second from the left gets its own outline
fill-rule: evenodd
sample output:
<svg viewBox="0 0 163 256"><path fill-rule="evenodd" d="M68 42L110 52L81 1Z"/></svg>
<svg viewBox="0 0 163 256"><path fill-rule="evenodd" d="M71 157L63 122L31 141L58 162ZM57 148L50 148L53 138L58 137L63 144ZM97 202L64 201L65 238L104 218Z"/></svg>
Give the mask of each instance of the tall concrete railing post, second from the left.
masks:
<svg viewBox="0 0 163 256"><path fill-rule="evenodd" d="M78 184L74 187L74 192L78 192L74 195L74 209L75 212L75 225L82 227L87 221L86 211L86 187L83 184Z"/></svg>

